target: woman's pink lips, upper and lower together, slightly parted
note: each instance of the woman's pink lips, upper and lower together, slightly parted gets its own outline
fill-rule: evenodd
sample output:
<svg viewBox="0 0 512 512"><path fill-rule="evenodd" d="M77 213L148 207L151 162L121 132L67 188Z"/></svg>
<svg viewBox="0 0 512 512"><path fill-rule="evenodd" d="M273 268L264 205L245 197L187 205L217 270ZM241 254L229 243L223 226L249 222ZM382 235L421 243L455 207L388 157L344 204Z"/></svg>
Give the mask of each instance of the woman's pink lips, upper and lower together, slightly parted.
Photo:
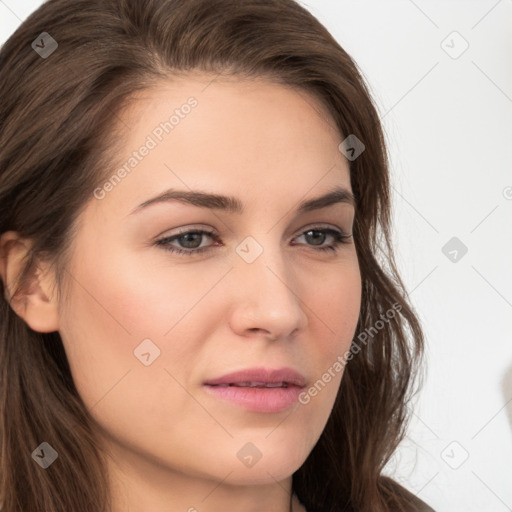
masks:
<svg viewBox="0 0 512 512"><path fill-rule="evenodd" d="M287 387L236 387L229 384L285 383ZM255 412L279 412L297 402L304 377L292 368L248 368L204 382L205 389L214 396Z"/></svg>

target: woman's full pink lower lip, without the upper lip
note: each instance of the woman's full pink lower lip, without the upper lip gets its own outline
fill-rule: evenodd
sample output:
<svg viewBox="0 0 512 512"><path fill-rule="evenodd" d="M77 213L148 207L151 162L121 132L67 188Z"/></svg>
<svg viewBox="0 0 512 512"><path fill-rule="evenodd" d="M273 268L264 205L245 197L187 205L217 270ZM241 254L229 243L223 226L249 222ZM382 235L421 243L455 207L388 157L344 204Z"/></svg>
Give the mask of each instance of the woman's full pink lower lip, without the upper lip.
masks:
<svg viewBox="0 0 512 512"><path fill-rule="evenodd" d="M206 390L218 398L255 412L280 412L298 401L302 388L249 388L237 386L209 386Z"/></svg>

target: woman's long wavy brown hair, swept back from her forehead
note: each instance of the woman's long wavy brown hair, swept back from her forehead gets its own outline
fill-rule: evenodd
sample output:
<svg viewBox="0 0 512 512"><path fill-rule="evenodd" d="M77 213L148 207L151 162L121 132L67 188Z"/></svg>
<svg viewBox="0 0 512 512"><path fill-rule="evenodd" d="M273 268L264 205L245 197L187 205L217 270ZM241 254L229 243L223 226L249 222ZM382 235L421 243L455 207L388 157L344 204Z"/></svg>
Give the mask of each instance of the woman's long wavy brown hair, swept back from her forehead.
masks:
<svg viewBox="0 0 512 512"><path fill-rule="evenodd" d="M363 293L358 351L293 490L308 512L431 510L383 475L405 436L424 338L394 262L382 126L354 61L294 0L49 0L21 24L0 51L0 234L33 242L19 287L47 261L64 296L75 221L110 174L118 114L135 92L190 70L300 88L327 107L340 142L355 135L364 143L350 160ZM30 329L0 286L2 510L108 511L96 426L59 333ZM46 470L31 456L43 441L58 452Z"/></svg>

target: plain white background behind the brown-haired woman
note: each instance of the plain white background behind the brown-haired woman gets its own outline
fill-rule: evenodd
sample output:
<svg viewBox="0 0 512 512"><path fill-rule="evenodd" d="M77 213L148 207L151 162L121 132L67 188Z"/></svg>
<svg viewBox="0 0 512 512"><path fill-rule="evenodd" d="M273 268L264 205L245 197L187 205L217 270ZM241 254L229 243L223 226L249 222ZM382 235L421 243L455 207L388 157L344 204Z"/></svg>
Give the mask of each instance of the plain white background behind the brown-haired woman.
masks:
<svg viewBox="0 0 512 512"><path fill-rule="evenodd" d="M388 473L438 512L512 511L512 1L301 3L381 113L399 269L427 338ZM40 4L0 0L0 44Z"/></svg>

